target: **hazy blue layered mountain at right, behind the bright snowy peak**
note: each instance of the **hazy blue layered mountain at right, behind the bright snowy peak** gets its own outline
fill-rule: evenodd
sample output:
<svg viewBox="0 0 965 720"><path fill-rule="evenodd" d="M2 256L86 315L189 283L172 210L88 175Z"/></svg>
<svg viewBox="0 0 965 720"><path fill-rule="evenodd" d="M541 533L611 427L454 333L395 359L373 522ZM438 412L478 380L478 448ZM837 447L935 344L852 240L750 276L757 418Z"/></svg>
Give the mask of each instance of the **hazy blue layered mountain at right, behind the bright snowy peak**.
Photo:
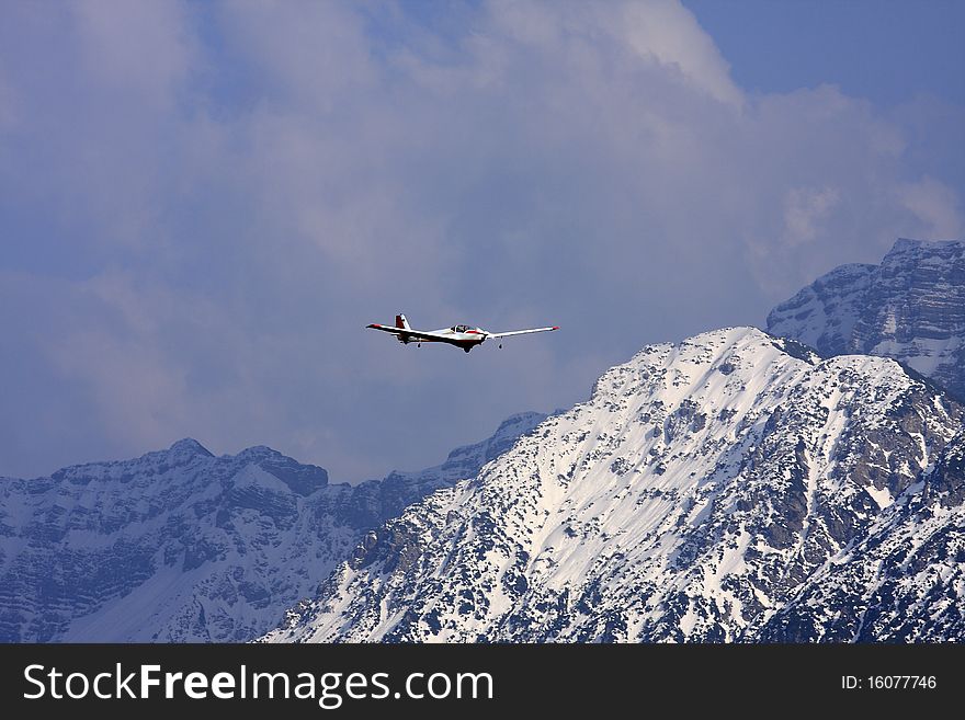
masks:
<svg viewBox="0 0 965 720"><path fill-rule="evenodd" d="M881 265L841 265L768 316L824 355L894 357L965 398L965 243L898 240Z"/></svg>

